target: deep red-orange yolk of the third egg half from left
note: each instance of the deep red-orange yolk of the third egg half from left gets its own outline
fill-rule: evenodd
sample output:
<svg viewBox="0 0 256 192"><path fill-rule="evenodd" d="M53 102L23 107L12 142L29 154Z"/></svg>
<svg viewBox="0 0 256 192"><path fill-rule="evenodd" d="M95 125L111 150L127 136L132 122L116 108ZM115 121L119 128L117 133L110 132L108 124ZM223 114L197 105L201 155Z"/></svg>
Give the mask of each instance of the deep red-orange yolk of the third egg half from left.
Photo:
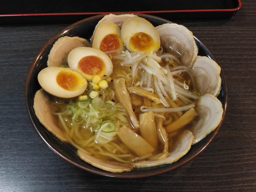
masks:
<svg viewBox="0 0 256 192"><path fill-rule="evenodd" d="M116 34L106 35L100 43L100 51L106 52L120 48L120 38Z"/></svg>

